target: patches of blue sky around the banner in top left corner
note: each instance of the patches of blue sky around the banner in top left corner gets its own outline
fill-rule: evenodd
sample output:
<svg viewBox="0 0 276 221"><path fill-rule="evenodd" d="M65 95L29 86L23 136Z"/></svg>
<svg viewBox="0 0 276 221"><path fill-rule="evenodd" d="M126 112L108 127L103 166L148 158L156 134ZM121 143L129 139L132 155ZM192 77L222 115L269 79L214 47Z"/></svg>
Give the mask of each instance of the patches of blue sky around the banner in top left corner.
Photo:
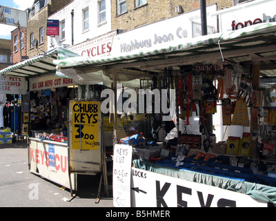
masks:
<svg viewBox="0 0 276 221"><path fill-rule="evenodd" d="M30 8L34 0L0 0L0 6L26 10ZM16 27L0 24L0 39L10 39L10 32Z"/></svg>

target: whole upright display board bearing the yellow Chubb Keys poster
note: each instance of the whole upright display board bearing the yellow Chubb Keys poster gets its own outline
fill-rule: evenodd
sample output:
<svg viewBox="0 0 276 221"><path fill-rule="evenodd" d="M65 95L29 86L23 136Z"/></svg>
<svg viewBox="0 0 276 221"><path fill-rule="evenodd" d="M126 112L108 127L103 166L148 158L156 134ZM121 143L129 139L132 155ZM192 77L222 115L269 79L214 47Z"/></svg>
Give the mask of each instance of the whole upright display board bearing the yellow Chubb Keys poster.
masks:
<svg viewBox="0 0 276 221"><path fill-rule="evenodd" d="M101 172L101 103L69 103L70 169L79 172Z"/></svg>

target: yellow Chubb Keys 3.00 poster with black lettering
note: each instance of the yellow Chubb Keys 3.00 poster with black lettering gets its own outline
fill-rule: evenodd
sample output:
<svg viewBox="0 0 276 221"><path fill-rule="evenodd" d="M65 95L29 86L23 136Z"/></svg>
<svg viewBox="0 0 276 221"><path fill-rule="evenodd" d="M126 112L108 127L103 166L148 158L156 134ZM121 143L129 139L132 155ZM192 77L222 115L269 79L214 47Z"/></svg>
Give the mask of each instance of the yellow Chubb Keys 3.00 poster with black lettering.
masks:
<svg viewBox="0 0 276 221"><path fill-rule="evenodd" d="M100 145L99 102L72 103L72 148L98 150Z"/></svg>

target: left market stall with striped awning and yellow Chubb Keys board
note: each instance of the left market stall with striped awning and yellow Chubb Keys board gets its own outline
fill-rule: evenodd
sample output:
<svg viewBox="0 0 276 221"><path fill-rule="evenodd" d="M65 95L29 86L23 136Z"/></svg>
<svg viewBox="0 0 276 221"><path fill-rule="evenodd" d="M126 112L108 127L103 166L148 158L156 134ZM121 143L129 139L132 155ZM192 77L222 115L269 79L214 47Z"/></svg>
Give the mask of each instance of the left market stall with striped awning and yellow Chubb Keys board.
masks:
<svg viewBox="0 0 276 221"><path fill-rule="evenodd" d="M104 129L101 115L100 95L105 86L79 85L52 64L54 59L72 56L79 55L56 48L5 68L1 74L28 81L28 91L25 87L21 94L29 170L70 189L70 200L77 191L77 175L101 174L99 202L102 181L108 194L106 146L112 145L112 133Z"/></svg>

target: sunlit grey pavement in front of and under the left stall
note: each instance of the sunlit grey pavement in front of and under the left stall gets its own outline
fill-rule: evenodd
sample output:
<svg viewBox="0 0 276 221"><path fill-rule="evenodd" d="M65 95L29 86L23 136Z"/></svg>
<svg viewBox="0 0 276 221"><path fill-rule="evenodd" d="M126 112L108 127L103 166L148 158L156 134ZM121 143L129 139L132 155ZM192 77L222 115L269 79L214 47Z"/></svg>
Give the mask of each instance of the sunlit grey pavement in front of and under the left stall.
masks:
<svg viewBox="0 0 276 221"><path fill-rule="evenodd" d="M113 207L112 193L101 187L95 203L99 175L77 175L78 191L70 202L70 189L28 171L26 140L0 145L0 207Z"/></svg>

